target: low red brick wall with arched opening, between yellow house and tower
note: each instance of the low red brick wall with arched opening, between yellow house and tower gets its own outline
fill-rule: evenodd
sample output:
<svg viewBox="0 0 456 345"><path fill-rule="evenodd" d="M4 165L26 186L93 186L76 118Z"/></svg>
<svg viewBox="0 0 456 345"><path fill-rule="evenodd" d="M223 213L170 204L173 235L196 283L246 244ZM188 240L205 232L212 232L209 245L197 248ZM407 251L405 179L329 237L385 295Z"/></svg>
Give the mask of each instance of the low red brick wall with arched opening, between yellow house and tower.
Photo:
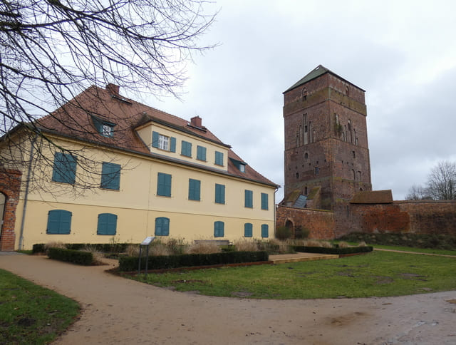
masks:
<svg viewBox="0 0 456 345"><path fill-rule="evenodd" d="M276 226L286 225L291 221L294 227L301 226L311 230L309 238L331 240L334 238L334 213L321 210L299 209L277 206Z"/></svg>

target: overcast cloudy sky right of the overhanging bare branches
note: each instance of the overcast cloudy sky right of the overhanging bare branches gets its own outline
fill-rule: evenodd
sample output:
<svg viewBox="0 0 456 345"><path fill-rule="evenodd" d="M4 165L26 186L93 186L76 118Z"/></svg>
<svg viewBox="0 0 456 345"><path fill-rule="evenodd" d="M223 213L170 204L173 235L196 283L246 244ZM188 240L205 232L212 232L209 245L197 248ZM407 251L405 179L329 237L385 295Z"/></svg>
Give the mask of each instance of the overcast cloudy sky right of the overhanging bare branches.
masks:
<svg viewBox="0 0 456 345"><path fill-rule="evenodd" d="M224 0L188 66L182 102L147 102L203 125L284 185L282 92L319 64L366 90L373 190L403 200L456 161L456 1ZM277 193L281 201L283 188Z"/></svg>

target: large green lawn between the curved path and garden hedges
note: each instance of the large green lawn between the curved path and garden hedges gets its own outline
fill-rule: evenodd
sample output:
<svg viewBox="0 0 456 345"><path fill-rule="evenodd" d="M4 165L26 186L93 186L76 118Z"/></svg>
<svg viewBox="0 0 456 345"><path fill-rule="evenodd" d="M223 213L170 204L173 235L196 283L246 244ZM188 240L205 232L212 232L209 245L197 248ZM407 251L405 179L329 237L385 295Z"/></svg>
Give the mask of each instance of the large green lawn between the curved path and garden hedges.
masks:
<svg viewBox="0 0 456 345"><path fill-rule="evenodd" d="M222 297L385 297L456 289L456 261L395 252L343 259L147 274L147 283ZM144 282L144 275L133 277Z"/></svg>

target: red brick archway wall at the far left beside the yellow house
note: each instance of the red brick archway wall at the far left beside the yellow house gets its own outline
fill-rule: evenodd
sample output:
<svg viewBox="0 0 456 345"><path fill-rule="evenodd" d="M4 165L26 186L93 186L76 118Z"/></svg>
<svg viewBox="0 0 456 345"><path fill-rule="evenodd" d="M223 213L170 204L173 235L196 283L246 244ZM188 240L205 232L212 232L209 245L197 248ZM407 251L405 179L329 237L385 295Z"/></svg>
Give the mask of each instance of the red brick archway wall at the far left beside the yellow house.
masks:
<svg viewBox="0 0 456 345"><path fill-rule="evenodd" d="M0 170L0 192L6 195L4 222L1 229L0 251L14 250L16 235L14 224L16 222L16 207L19 202L21 187L21 172L18 170Z"/></svg>

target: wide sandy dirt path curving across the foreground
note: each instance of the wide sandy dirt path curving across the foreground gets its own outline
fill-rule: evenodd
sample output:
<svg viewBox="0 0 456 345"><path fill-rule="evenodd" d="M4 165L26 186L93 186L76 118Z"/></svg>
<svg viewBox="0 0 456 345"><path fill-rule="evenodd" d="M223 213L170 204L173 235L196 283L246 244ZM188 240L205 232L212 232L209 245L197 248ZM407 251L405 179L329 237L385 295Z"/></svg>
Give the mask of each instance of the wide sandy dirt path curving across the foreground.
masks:
<svg viewBox="0 0 456 345"><path fill-rule="evenodd" d="M456 344L456 291L277 301L172 292L47 257L0 255L0 268L81 303L56 344Z"/></svg>

